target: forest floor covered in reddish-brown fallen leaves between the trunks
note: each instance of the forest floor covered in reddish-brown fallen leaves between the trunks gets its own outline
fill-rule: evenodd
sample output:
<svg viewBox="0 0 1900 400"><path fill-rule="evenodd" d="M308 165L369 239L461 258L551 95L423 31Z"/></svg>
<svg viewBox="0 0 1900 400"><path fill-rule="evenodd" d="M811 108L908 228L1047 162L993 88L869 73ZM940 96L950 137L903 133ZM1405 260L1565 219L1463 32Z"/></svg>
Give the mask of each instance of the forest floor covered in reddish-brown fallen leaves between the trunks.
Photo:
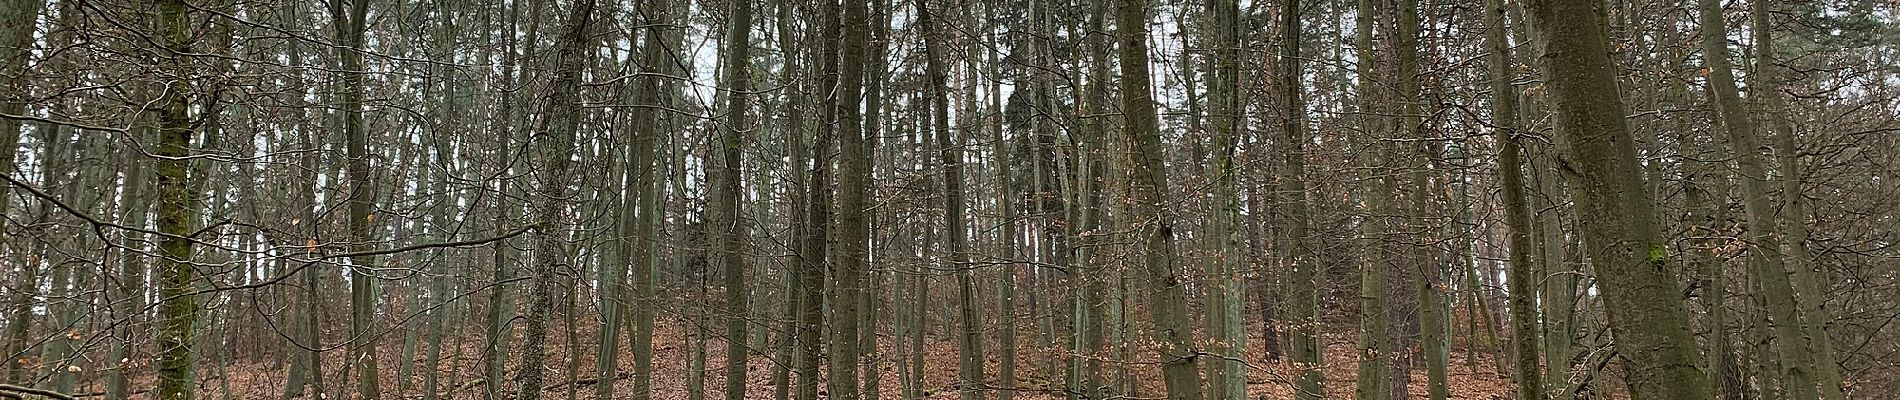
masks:
<svg viewBox="0 0 1900 400"><path fill-rule="evenodd" d="M559 320L551 322L559 324ZM1250 332L1254 332L1250 343L1256 345L1256 351L1250 355L1258 355L1258 343L1262 343L1260 330L1256 326L1256 330ZM597 381L593 379L595 377L593 366L597 349L593 347L593 337L595 337L593 326L583 324L574 330L574 337L578 337L574 349L568 347L568 330L560 326L551 326L549 336L553 337L549 337L549 349L547 349L549 362L542 366L545 368L543 370L545 385L542 396L555 400L595 398L597 389L593 385L597 385ZM331 336L331 337L340 337L340 336ZM1324 336L1324 341L1326 341L1326 353L1324 353L1322 372L1326 375L1326 398L1351 398L1355 387L1353 381L1357 375L1353 337L1345 334L1340 336L1328 334ZM428 347L424 343L412 343L412 345L414 345L412 356L416 360L414 364L420 368L420 364L426 362ZM707 345L707 356L705 356L707 373L703 383L705 396L722 398L726 387L726 377L724 377L726 341L709 339L705 345ZM996 349L994 347L996 343L986 343L986 345L990 345L990 349ZM245 351L241 349L245 345L236 345L236 347L239 349L234 349L232 353L226 355L201 355L205 358L201 358L203 362L200 364L198 370L200 375L198 398L245 398L245 400L283 398L283 389L285 389L283 385L287 375L283 362L287 356L283 355L283 349L260 349L258 353L245 355ZM391 394L388 398L422 398L420 387L424 387L424 372L420 370L408 372L410 375L408 381L401 381L397 377L403 373L403 370L395 360L401 358L403 347L405 343L399 336L384 337L384 341L378 343L378 356L382 358L382 362L378 362L382 366L382 379L380 379L382 391L386 394ZM460 347L462 351L456 351L456 347ZM688 377L690 377L688 370L694 358L694 345L690 336L686 336L680 324L676 322L661 324L656 332L654 349L656 349L654 398L657 400L692 398L688 396ZM925 349L927 355L923 368L927 373L923 377L923 383L927 398L958 398L956 341L933 337L925 343ZM481 379L479 373L481 368L479 355L481 355L479 337L448 339L445 343L443 349L445 362L439 362L435 366L437 372L441 373L439 375L441 398L483 398L481 392L486 383ZM897 366L891 364L893 360L897 360L895 355L897 353L891 351L889 337L885 337L878 353L878 362L882 370L878 377L880 379L878 398L902 398L899 372ZM988 351L988 355L990 355L988 356L990 366L986 372L992 379L996 379L999 353ZM1060 355L1062 355L1060 349L1039 347L1034 330L1024 330L1024 341L1018 347L1018 379L1015 385L1016 398L1020 400L1062 398L1060 389L1064 375L1062 375L1062 366L1056 364L1060 360L1058 358ZM1134 387L1138 391L1136 398L1159 398L1163 387L1159 379L1159 368L1151 368L1155 366L1151 360L1153 353L1136 351L1136 355L1132 356L1134 360L1125 366L1132 370L1136 381ZM1144 356L1148 360L1144 360ZM236 362L217 362L224 358L236 358ZM346 358L344 351L331 351L325 356L325 381L329 383L325 391L329 392L329 396L325 398L355 398L346 392L346 389L350 387L338 385L344 383L344 375L340 373L344 358ZM623 347L619 355L621 379L614 381L616 389L614 398L631 398L633 392L633 379L629 379L633 372L631 358L633 358L631 353L627 353ZM572 368L576 368L578 372L576 373L578 379L576 375L568 373L570 362ZM511 358L511 364L519 366L519 349L517 355ZM747 379L750 381L747 385L747 398L773 398L771 358L756 355L747 364L749 364ZM1113 373L1113 368L1117 366L1104 366L1104 368L1108 368L1110 373ZM1248 368L1250 368L1248 394L1252 398L1292 398L1290 381L1294 379L1294 373L1286 362L1254 360L1250 362ZM509 375L515 373L519 372L511 368ZM97 394L103 391L97 372L84 375L89 377L80 379L82 383L86 383L86 389L82 392ZM1412 375L1410 379L1412 398L1425 398L1423 364L1414 364L1410 375ZM1492 356L1482 353L1478 355L1478 358L1467 360L1467 351L1463 351L1463 347L1454 349L1450 379L1452 379L1450 381L1452 398L1474 398L1474 400L1510 398L1509 379L1501 377L1495 370L1495 364L1492 362ZM150 375L135 379L135 385L139 387L148 387L148 383ZM994 387L1007 387L1007 385L994 385ZM823 385L821 391L825 391ZM401 396L395 396L397 392L401 392ZM300 398L314 398L314 396L300 396Z"/></svg>

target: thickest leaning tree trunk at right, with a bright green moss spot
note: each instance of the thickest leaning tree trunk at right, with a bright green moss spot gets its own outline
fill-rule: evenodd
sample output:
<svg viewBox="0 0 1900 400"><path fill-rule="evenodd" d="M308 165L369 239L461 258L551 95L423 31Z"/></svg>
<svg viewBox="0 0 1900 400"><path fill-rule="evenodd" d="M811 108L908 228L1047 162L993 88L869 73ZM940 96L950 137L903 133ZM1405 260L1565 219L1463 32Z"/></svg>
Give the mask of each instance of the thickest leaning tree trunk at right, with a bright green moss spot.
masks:
<svg viewBox="0 0 1900 400"><path fill-rule="evenodd" d="M1689 336L1689 317L1668 275L1668 248L1644 191L1636 148L1617 93L1615 64L1602 17L1588 0L1530 4L1554 102L1556 129L1568 146L1566 174L1575 193L1585 254L1598 265L1632 398L1700 400L1708 396L1702 360Z"/></svg>

